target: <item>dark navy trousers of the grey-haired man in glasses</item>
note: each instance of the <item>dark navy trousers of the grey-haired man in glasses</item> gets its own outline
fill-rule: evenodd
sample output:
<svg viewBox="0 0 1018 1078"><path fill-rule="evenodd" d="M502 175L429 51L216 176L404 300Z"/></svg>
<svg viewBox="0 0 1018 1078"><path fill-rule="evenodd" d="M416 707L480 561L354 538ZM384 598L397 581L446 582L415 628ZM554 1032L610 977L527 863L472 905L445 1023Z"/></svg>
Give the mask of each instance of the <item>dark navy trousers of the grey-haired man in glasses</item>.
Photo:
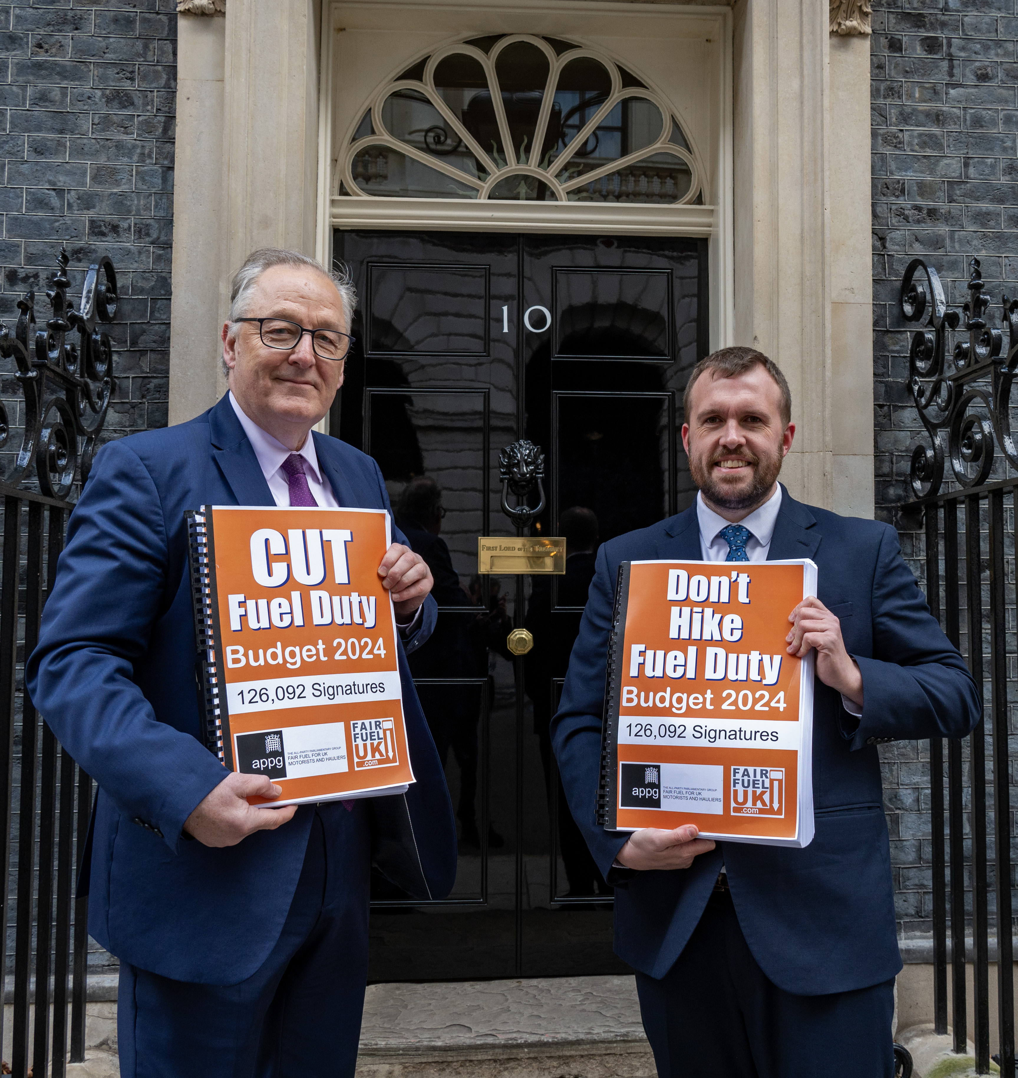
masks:
<svg viewBox="0 0 1018 1078"><path fill-rule="evenodd" d="M122 963L123 1078L353 1078L369 865L363 801L324 804L279 942L248 980L186 984Z"/></svg>

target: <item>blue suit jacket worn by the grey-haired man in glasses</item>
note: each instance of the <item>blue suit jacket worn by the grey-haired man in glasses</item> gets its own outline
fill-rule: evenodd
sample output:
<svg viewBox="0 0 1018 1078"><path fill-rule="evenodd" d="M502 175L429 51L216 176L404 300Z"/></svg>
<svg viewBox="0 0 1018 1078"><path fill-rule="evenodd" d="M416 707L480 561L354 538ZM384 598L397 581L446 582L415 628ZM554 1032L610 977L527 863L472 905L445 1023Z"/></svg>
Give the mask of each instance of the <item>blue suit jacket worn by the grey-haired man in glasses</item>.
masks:
<svg viewBox="0 0 1018 1078"><path fill-rule="evenodd" d="M340 506L390 508L371 457L313 438ZM89 934L165 977L235 984L279 938L315 810L301 806L277 830L223 849L181 840L187 816L227 774L198 741L184 511L201 505L275 505L225 397L191 423L99 452L71 514L26 683L99 784ZM395 530L394 539L405 541ZM429 596L406 651L435 619ZM372 815L374 856L387 874L416 897L445 897L456 876L456 825L402 647L400 672L417 782L405 797L371 799L358 811Z"/></svg>

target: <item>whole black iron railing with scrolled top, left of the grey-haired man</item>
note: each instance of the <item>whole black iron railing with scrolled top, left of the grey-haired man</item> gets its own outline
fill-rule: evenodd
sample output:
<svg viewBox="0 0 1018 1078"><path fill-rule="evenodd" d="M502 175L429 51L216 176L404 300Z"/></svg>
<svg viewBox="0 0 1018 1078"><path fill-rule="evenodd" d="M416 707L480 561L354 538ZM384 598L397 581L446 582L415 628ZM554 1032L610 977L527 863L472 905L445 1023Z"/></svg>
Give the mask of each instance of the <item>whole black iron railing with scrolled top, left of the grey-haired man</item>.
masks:
<svg viewBox="0 0 1018 1078"><path fill-rule="evenodd" d="M68 1056L80 1062L85 1051L87 900L74 897L74 883L92 779L57 744L24 683L24 663L38 642L64 549L70 496L87 478L113 389L112 347L102 329L116 310L113 265L101 259L88 270L78 309L68 302L67 265L61 251L44 327L36 324L31 292L18 303L14 332L0 326L6 361L0 401L0 873L9 881L0 889L0 969L13 972L4 995L13 996L15 1078L30 1070L62 1078ZM0 1011L0 1040L2 1022Z"/></svg>

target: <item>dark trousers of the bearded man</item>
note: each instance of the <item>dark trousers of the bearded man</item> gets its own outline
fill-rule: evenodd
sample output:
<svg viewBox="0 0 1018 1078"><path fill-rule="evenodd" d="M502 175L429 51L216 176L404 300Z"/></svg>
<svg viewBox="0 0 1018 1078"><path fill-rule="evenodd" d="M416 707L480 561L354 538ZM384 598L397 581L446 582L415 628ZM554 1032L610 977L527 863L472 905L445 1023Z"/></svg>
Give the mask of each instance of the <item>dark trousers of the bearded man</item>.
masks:
<svg viewBox="0 0 1018 1078"><path fill-rule="evenodd" d="M893 1078L894 981L784 992L750 953L727 892L661 980L637 973L637 991L659 1078Z"/></svg>

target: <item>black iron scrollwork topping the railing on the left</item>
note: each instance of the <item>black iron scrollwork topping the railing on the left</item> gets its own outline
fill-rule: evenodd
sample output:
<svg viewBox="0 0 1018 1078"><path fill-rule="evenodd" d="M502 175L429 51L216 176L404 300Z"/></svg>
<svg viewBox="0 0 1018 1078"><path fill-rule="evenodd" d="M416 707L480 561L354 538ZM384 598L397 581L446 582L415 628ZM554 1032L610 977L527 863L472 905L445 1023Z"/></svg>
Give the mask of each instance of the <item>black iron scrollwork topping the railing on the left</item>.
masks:
<svg viewBox="0 0 1018 1078"><path fill-rule="evenodd" d="M14 358L17 379L25 398L25 424L16 457L0 475L0 482L16 486L26 480L32 465L43 494L66 498L81 464L81 481L88 478L92 457L113 392L109 335L99 328L116 314L116 271L103 255L88 268L81 308L68 304L70 258L61 247L57 272L46 290L52 317L45 329L37 329L36 293L19 300L17 324L11 331L0 322L0 356ZM78 342L68 343L69 332ZM11 436L11 423L0 401L0 451ZM83 439L79 451L79 439Z"/></svg>

